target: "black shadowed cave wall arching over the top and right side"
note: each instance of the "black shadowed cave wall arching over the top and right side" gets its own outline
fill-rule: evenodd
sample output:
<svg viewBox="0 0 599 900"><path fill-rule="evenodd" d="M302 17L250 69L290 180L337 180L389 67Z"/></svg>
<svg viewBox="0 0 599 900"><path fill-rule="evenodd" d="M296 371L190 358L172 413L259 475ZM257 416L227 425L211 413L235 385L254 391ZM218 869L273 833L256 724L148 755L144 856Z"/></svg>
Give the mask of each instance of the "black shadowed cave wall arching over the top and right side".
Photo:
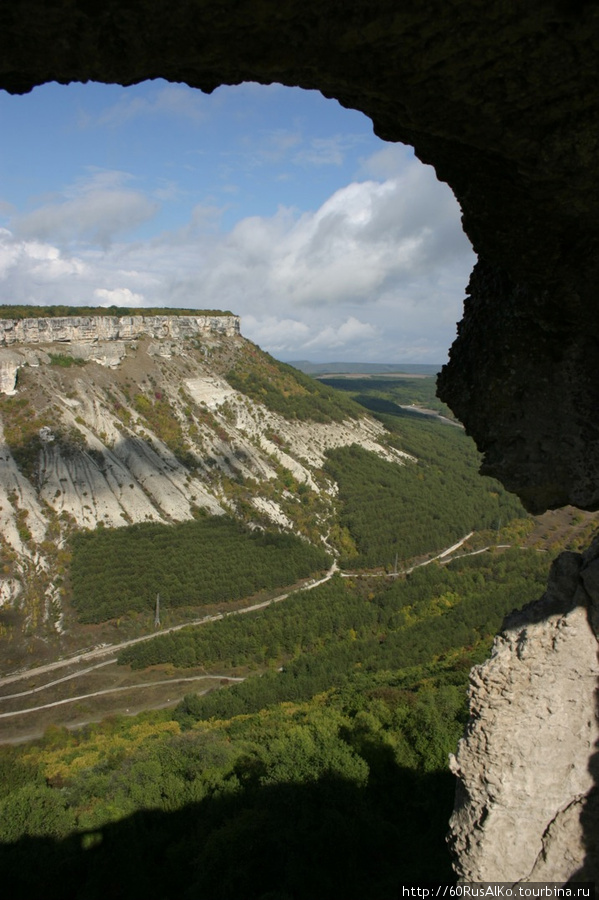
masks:
<svg viewBox="0 0 599 900"><path fill-rule="evenodd" d="M595 3L13 0L0 48L0 87L14 93L51 80L278 81L336 97L380 137L413 145L453 188L479 259L441 396L485 470L530 510L599 508ZM585 708L592 717L589 696ZM515 815L503 827L517 835ZM472 836L481 823L469 821Z"/></svg>

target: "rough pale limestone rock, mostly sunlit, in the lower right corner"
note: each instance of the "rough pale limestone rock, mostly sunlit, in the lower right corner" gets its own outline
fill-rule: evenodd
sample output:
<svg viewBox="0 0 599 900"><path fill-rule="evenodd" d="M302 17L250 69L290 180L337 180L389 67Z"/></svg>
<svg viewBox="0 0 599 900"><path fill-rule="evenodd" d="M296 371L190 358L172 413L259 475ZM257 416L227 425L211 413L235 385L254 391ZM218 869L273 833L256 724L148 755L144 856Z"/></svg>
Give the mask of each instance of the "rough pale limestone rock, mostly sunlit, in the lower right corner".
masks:
<svg viewBox="0 0 599 900"><path fill-rule="evenodd" d="M451 759L461 879L597 879L598 610L599 544L563 553L546 594L507 617L473 669L470 722Z"/></svg>

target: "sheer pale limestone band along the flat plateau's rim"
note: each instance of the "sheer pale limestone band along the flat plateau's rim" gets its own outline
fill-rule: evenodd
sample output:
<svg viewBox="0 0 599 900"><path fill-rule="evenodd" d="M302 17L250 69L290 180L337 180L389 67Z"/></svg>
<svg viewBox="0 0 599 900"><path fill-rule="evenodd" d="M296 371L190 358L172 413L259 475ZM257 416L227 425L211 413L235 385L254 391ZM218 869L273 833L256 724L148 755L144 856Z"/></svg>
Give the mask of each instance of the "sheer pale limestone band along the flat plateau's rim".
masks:
<svg viewBox="0 0 599 900"><path fill-rule="evenodd" d="M239 316L63 316L0 319L0 346L12 344L89 344L153 338L182 340L215 332L240 333Z"/></svg>

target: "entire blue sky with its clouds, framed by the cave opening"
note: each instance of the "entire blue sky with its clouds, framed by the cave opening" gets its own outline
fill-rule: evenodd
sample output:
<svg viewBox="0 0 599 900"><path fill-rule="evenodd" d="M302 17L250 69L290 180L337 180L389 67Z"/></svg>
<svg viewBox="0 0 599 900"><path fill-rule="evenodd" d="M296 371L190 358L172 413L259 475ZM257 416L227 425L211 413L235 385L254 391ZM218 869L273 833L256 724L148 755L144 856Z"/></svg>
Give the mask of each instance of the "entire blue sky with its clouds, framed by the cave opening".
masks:
<svg viewBox="0 0 599 900"><path fill-rule="evenodd" d="M444 362L458 205L361 113L281 85L0 92L0 303L230 309L280 359Z"/></svg>

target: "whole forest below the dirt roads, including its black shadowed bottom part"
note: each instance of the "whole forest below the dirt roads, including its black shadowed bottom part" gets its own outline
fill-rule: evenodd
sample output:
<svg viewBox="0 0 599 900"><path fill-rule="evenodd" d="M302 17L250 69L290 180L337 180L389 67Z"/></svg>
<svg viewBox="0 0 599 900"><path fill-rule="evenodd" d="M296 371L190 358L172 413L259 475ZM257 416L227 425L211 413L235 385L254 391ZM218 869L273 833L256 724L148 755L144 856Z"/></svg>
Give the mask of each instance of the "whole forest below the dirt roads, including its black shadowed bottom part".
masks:
<svg viewBox="0 0 599 900"><path fill-rule="evenodd" d="M178 665L191 647L254 674L174 711L0 749L8 895L37 896L40 872L48 900L396 900L401 884L452 882L447 755L468 671L548 563L515 550L406 579L337 576L179 633Z"/></svg>

